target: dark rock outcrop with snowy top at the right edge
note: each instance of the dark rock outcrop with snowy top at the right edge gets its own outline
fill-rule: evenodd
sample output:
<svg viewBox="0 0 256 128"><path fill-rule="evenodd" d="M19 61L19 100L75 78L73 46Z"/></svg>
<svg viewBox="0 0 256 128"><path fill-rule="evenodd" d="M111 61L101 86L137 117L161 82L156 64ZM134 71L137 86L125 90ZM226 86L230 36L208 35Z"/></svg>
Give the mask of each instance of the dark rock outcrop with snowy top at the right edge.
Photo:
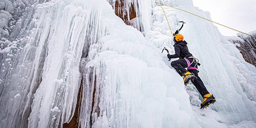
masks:
<svg viewBox="0 0 256 128"><path fill-rule="evenodd" d="M250 35L256 36L256 31L250 32ZM256 67L256 38L242 34L237 36L239 38L230 38L229 41L236 44L245 61Z"/></svg>

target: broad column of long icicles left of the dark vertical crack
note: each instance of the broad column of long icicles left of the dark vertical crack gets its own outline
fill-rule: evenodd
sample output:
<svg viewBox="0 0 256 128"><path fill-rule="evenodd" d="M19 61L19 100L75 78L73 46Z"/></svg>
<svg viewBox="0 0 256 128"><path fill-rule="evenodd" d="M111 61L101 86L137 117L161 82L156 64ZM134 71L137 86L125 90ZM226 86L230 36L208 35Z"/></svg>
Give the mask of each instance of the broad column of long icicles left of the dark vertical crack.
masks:
<svg viewBox="0 0 256 128"><path fill-rule="evenodd" d="M86 15L69 1L36 6L27 26L32 29L14 41L26 42L17 68L11 68L1 86L1 128L56 128L70 119L81 81Z"/></svg>

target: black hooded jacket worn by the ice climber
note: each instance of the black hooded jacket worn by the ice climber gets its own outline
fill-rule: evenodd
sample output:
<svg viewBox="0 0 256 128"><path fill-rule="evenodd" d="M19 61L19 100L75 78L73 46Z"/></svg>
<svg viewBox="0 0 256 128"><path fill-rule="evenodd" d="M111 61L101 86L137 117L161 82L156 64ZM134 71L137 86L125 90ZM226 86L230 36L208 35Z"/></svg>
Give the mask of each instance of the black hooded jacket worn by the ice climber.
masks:
<svg viewBox="0 0 256 128"><path fill-rule="evenodd" d="M186 41L177 41L173 46L175 49L175 54L173 55L167 55L169 59L171 58L186 58L192 56L192 54L189 52L188 47L186 46Z"/></svg>

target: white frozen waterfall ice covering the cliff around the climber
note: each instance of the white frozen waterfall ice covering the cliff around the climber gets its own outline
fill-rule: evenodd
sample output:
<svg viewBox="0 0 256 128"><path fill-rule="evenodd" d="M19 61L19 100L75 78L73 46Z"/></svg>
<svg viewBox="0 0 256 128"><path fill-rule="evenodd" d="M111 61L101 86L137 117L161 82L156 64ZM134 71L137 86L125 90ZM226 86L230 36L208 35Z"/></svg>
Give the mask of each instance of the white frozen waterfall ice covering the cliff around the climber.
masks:
<svg viewBox="0 0 256 128"><path fill-rule="evenodd" d="M192 0L157 2L210 18ZM110 0L36 5L29 27L22 31L25 38L1 42L0 54L10 58L5 56L1 64L0 128L62 127L75 112L80 85L81 128L90 128L90 121L92 128L256 126L256 69L216 26L163 6L172 31L180 28L178 21L186 22L180 34L199 59L199 76L216 98L214 105L199 109L202 97L195 86L184 87L170 66L175 59L168 61L166 52L161 53L163 47L174 53L162 8L153 0L130 3L138 5L143 32L125 25ZM12 54L15 50L18 55Z"/></svg>

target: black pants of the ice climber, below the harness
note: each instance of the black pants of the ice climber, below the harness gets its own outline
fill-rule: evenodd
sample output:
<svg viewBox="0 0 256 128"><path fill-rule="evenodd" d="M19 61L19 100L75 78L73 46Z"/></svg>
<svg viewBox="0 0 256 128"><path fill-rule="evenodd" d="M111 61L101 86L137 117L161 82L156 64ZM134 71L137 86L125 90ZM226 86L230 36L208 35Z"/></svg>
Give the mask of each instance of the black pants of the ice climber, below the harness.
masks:
<svg viewBox="0 0 256 128"><path fill-rule="evenodd" d="M187 58L187 60L189 60L190 63L193 62L193 58ZM195 69L186 70L185 69L186 67L188 67L187 61L185 59L179 59L176 61L172 61L171 65L172 65L172 67L175 68L177 73L180 74L180 76L183 76L183 73L186 73L187 71L189 71L190 73L193 73L195 75L195 79L193 79L191 82L192 82L192 84L195 85L196 89L198 90L198 92L201 94L202 97L204 97L205 94L209 93L207 91L206 87L204 86L203 81L198 76L198 70L195 70ZM192 63L190 66L194 67L195 62ZM195 67L197 68L197 65Z"/></svg>

